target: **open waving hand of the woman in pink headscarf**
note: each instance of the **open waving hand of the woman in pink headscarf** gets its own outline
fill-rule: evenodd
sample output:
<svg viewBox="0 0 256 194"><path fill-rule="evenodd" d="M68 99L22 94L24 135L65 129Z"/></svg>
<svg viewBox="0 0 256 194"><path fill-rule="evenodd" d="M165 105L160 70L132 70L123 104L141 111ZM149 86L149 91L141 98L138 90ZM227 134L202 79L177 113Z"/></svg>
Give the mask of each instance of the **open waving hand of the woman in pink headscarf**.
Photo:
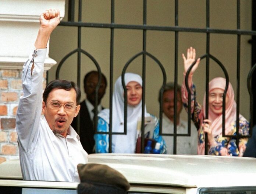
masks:
<svg viewBox="0 0 256 194"><path fill-rule="evenodd" d="M191 66L191 64L196 59L196 49L194 49L192 46L188 48L187 50L187 57L182 53L182 58L184 60L184 72L186 73L188 71L188 68ZM196 60L196 64L193 66L192 70L190 71L190 75L193 75L193 73L198 68L200 62L200 58Z"/></svg>

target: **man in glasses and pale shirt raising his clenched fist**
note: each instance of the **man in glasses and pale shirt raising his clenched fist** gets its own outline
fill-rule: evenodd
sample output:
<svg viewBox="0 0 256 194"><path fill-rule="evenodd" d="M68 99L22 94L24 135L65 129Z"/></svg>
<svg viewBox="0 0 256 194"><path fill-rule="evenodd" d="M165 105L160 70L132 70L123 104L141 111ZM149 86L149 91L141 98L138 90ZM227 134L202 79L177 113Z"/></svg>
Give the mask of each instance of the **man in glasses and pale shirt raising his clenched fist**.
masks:
<svg viewBox="0 0 256 194"><path fill-rule="evenodd" d="M88 162L70 126L80 109L80 90L74 82L55 80L42 96L46 45L58 23L59 10L43 12L35 49L23 66L24 95L19 99L16 129L24 180L79 182L77 164Z"/></svg>

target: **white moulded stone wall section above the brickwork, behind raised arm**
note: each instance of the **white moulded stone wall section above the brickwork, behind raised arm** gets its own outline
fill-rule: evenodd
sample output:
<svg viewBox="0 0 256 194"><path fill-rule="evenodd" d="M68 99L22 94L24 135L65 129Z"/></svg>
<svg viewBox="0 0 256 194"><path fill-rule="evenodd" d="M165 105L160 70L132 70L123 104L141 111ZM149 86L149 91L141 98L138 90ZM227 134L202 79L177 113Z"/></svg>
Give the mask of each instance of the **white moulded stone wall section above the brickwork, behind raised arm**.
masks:
<svg viewBox="0 0 256 194"><path fill-rule="evenodd" d="M22 69L38 34L40 14L49 8L59 9L62 19L65 0L0 0L1 69ZM48 53L45 70L56 64Z"/></svg>

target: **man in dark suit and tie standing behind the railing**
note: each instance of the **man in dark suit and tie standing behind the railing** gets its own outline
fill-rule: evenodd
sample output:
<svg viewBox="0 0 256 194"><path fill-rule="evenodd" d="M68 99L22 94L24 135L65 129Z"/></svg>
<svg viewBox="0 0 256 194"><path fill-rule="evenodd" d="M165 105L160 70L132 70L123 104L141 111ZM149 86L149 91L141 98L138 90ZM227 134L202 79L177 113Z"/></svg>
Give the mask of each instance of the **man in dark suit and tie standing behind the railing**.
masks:
<svg viewBox="0 0 256 194"><path fill-rule="evenodd" d="M99 80L99 74L97 71L90 71L85 75L83 79L83 87L86 93L86 99L80 103L80 130L77 126L77 117L74 118L71 126L78 132L80 137L80 142L82 143L83 149L90 154L94 153L95 141L93 135L95 133L93 125L94 117L94 106L95 106L95 95L96 86ZM102 74L102 81L100 83L98 92L98 107L97 111L100 112L103 107L100 104L107 87L107 79L105 75Z"/></svg>

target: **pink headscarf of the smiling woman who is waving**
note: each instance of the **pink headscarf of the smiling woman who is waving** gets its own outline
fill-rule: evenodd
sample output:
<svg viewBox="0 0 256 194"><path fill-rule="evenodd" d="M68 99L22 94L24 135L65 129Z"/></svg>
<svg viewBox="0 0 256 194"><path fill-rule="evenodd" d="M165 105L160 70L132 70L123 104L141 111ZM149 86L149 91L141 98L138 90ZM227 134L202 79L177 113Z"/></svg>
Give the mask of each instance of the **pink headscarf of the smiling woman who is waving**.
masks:
<svg viewBox="0 0 256 194"><path fill-rule="evenodd" d="M219 88L219 89L225 89L226 86L226 79L217 77L212 79L209 82L209 93L211 90ZM226 96L229 97L228 104L226 103L226 110L225 110L225 134L227 135L232 128L232 124L237 119L237 103L235 102L235 94L234 89L231 85L231 83L228 83L228 90ZM203 99L203 115L205 117L205 101L206 101L206 94ZM216 114L214 114L211 109L209 108L209 114L208 118L211 120L212 124L212 134L215 137L216 135L222 135L222 114L216 117ZM198 154L204 154L205 153L205 144L201 144L198 147Z"/></svg>

